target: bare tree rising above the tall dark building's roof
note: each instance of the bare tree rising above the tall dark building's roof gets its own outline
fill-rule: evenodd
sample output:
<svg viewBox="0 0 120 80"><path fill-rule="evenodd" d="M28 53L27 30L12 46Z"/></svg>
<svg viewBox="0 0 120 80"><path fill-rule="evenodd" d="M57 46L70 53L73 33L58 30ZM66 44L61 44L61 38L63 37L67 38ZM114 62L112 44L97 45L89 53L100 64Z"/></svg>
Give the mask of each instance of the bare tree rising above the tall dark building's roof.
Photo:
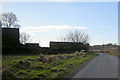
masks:
<svg viewBox="0 0 120 80"><path fill-rule="evenodd" d="M7 28L20 27L20 25L16 23L18 20L14 13L2 13L0 15L0 21L3 27Z"/></svg>

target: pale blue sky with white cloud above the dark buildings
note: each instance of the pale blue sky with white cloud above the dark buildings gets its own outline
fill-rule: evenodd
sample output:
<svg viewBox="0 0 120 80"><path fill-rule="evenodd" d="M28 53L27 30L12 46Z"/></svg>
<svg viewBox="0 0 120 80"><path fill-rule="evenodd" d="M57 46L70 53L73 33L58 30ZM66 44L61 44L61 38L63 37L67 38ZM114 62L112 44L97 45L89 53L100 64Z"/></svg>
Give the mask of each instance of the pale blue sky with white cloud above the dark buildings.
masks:
<svg viewBox="0 0 120 80"><path fill-rule="evenodd" d="M2 13L13 12L20 33L31 35L31 43L49 47L71 31L89 35L90 45L118 43L117 2L4 2Z"/></svg>

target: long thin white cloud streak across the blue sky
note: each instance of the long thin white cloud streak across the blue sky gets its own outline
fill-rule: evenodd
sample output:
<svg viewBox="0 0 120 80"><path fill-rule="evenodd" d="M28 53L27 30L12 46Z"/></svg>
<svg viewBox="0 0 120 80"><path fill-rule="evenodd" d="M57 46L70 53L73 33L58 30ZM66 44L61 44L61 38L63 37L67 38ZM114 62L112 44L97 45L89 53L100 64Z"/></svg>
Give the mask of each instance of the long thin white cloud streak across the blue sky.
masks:
<svg viewBox="0 0 120 80"><path fill-rule="evenodd" d="M67 30L67 29L88 29L87 27L81 26L56 26L56 25L47 25L47 26L31 26L31 27L21 27L21 32L49 32L54 30Z"/></svg>

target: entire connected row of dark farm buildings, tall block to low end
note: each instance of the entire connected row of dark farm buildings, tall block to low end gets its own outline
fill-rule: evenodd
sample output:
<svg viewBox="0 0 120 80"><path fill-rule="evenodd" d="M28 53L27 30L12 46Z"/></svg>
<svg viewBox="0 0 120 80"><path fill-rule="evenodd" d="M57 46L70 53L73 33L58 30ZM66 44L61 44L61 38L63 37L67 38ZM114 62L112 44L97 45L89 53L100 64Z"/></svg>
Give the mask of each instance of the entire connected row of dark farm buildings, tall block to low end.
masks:
<svg viewBox="0 0 120 80"><path fill-rule="evenodd" d="M38 43L19 42L19 28L2 28L3 54L57 54L88 51L89 44L74 42L50 42L50 47L40 47Z"/></svg>

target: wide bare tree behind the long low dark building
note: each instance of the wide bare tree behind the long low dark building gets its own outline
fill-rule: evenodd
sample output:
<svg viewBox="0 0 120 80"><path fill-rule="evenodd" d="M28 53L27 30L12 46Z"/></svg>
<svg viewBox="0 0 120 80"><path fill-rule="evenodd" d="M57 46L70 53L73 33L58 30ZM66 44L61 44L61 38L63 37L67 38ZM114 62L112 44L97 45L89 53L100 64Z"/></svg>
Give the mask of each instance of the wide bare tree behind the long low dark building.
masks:
<svg viewBox="0 0 120 80"><path fill-rule="evenodd" d="M87 44L88 34L75 30L74 32L69 32L69 34L67 34L64 38L62 38L62 41Z"/></svg>

